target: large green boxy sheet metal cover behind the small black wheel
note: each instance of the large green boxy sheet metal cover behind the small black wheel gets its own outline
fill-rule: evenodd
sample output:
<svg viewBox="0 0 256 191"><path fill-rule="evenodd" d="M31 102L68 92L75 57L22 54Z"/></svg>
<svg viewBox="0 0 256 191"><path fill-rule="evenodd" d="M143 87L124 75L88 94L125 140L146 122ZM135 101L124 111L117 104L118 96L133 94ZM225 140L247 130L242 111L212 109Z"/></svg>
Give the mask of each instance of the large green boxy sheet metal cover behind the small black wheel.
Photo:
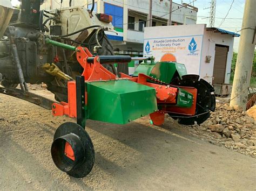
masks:
<svg viewBox="0 0 256 191"><path fill-rule="evenodd" d="M129 80L87 83L87 118L126 124L157 110L156 91Z"/></svg>

